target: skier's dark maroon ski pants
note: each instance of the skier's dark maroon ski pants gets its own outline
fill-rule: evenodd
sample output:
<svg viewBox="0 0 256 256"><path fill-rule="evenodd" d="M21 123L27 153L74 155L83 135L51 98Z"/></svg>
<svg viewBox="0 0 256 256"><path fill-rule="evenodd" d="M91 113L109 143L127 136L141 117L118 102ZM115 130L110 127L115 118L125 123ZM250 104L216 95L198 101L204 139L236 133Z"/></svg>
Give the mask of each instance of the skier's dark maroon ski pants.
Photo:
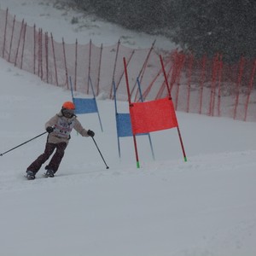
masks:
<svg viewBox="0 0 256 256"><path fill-rule="evenodd" d="M26 171L32 171L36 174L56 149L55 154L49 161L49 165L46 166L45 169L50 169L53 172L57 172L66 148L67 143L46 143L44 153L39 155L38 159L34 160L32 164L27 167Z"/></svg>

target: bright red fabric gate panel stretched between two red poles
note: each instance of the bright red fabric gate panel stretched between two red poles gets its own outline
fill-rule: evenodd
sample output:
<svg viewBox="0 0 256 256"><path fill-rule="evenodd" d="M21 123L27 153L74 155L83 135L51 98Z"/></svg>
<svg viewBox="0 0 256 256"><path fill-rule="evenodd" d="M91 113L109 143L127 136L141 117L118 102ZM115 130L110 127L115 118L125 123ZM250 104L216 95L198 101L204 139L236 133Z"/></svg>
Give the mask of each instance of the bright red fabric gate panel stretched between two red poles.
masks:
<svg viewBox="0 0 256 256"><path fill-rule="evenodd" d="M130 114L133 134L161 131L178 126L174 106L169 98L131 103Z"/></svg>

